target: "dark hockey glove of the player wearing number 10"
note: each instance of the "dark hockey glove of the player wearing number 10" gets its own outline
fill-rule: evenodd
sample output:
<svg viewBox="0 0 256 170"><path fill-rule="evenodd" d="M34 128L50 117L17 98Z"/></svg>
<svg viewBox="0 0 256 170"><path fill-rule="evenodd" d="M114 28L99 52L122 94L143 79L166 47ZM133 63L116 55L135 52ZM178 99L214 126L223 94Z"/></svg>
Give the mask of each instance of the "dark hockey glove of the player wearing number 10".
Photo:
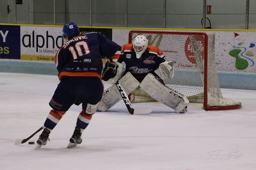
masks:
<svg viewBox="0 0 256 170"><path fill-rule="evenodd" d="M105 68L103 69L102 79L103 81L108 81L109 79L115 77L117 73L118 65L113 62L107 62Z"/></svg>

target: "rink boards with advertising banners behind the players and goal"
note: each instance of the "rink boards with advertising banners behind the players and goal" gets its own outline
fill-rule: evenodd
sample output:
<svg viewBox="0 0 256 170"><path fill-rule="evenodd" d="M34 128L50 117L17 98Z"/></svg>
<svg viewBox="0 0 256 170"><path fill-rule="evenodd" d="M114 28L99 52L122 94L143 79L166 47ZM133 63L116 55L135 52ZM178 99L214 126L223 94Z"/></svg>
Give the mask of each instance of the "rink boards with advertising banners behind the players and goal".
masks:
<svg viewBox="0 0 256 170"><path fill-rule="evenodd" d="M128 43L128 33L138 29L146 28L80 27L80 32L101 32L119 45L124 45ZM256 89L256 30L210 31L216 34L215 53L221 88ZM63 44L62 26L0 24L0 72L56 75L55 54Z"/></svg>

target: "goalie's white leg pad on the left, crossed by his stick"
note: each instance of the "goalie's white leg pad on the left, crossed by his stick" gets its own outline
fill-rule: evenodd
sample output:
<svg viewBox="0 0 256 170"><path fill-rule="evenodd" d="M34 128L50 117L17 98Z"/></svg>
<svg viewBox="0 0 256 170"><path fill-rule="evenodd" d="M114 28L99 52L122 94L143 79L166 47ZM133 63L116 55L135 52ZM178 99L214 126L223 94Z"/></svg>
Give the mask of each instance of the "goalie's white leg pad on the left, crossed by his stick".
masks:
<svg viewBox="0 0 256 170"><path fill-rule="evenodd" d="M139 86L139 81L128 72L121 79L120 82L126 94L130 94L135 88ZM103 97L98 105L99 111L107 111L117 102L121 101L122 97L117 89L117 86L113 84L110 88L106 89L103 93Z"/></svg>

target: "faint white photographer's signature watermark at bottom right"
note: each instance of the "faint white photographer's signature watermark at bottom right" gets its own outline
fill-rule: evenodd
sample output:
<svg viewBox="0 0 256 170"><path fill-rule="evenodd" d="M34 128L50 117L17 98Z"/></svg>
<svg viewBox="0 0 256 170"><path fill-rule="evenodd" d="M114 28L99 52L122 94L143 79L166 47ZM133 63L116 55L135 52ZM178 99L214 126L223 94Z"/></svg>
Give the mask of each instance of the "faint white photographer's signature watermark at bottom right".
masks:
<svg viewBox="0 0 256 170"><path fill-rule="evenodd" d="M234 159L241 157L240 151L212 150L207 153L207 159Z"/></svg>

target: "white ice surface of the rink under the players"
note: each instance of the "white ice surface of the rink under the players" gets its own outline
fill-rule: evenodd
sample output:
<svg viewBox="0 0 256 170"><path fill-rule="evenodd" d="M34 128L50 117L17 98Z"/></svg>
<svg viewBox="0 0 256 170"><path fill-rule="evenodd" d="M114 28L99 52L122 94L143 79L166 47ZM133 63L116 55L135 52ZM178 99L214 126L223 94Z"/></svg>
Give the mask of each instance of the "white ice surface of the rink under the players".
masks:
<svg viewBox="0 0 256 170"><path fill-rule="evenodd" d="M244 82L246 83L246 82ZM131 115L123 102L96 112L83 132L83 143L67 149L80 106L71 107L50 134L46 146L15 145L41 127L58 84L56 76L0 73L0 169L256 169L256 91L222 89L243 108L204 111L190 104L176 114L158 103ZM36 141L38 133L31 139Z"/></svg>

